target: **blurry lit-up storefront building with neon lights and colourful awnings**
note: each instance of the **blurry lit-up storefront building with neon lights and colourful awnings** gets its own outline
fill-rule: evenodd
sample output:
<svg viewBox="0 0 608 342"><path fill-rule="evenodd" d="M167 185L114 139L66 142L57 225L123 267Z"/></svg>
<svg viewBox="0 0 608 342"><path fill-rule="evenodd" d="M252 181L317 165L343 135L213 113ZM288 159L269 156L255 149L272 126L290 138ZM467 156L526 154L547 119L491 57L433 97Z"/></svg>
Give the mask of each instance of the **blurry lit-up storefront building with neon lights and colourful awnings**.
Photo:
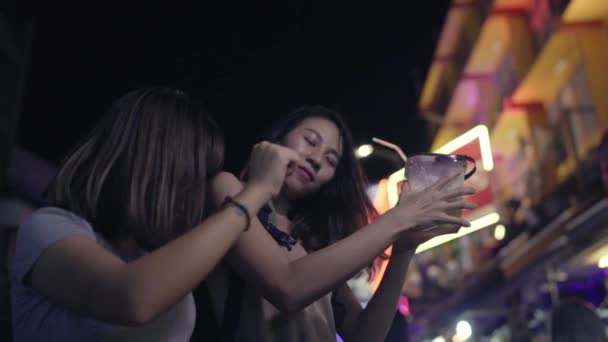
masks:
<svg viewBox="0 0 608 342"><path fill-rule="evenodd" d="M608 128L608 1L463 4L449 12L419 106L431 150L476 159L468 182L479 207L465 213L473 228L418 250L403 286L410 336L549 340L551 312L566 298L584 300L599 319L608 312L598 160ZM374 187L381 211L402 179L398 170Z"/></svg>

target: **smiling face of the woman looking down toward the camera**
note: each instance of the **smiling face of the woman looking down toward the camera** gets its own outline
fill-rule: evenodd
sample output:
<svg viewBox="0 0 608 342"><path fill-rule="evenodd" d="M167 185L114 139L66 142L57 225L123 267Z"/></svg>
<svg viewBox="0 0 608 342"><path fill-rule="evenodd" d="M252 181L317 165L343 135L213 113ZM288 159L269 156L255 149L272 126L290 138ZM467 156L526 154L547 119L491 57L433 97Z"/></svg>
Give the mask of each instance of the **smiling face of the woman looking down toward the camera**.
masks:
<svg viewBox="0 0 608 342"><path fill-rule="evenodd" d="M288 198L313 194L334 177L342 156L342 136L331 120L304 119L287 134L283 144L306 160L303 165L294 165L285 177L283 193Z"/></svg>

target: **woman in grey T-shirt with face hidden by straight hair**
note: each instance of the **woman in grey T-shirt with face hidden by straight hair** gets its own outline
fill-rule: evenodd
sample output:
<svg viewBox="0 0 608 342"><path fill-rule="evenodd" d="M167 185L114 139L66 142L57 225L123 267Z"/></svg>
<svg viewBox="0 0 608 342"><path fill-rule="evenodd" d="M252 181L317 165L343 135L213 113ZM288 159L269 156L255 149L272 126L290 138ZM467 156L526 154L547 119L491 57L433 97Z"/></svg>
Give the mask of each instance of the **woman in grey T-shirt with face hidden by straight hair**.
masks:
<svg viewBox="0 0 608 342"><path fill-rule="evenodd" d="M299 158L281 154L254 149L252 182L207 217L223 161L215 123L181 91L118 99L60 167L49 206L19 228L15 340L188 341L190 292L248 229L248 210L279 191Z"/></svg>

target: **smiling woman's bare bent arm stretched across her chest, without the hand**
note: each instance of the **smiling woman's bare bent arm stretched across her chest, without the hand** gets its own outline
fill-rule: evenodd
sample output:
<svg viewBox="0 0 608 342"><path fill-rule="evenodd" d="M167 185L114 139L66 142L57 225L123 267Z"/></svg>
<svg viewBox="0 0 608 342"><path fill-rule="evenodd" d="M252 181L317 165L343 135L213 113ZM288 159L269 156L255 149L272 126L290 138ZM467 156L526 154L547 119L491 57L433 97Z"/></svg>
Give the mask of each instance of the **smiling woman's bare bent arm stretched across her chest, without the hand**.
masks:
<svg viewBox="0 0 608 342"><path fill-rule="evenodd" d="M239 193L242 184L226 176L217 184L219 198ZM385 213L331 246L289 261L259 220L241 235L229 260L247 281L281 311L297 311L345 283L395 242L408 222Z"/></svg>

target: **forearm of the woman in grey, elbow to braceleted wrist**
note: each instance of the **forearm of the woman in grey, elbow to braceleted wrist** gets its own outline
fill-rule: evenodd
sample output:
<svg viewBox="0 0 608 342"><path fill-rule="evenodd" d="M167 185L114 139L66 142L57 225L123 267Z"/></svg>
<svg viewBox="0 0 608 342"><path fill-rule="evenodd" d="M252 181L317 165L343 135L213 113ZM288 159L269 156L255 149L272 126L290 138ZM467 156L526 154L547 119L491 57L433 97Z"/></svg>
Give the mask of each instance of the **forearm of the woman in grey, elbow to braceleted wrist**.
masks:
<svg viewBox="0 0 608 342"><path fill-rule="evenodd" d="M235 197L250 212L264 200L244 191ZM188 233L128 264L126 286L131 305L146 321L169 309L196 287L220 262L245 228L239 209L227 206Z"/></svg>

